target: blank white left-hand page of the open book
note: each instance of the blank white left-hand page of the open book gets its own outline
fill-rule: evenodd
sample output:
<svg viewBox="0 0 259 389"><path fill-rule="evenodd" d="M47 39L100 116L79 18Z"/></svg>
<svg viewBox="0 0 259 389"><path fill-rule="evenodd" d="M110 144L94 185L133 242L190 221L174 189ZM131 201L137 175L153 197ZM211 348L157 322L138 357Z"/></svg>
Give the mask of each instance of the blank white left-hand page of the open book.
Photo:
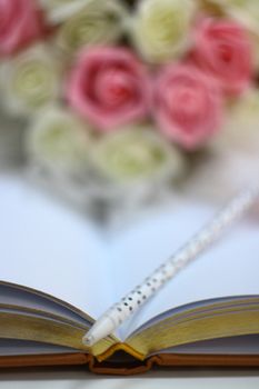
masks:
<svg viewBox="0 0 259 389"><path fill-rule="evenodd" d="M97 228L21 178L0 177L0 280L62 299L97 318L112 303Z"/></svg>

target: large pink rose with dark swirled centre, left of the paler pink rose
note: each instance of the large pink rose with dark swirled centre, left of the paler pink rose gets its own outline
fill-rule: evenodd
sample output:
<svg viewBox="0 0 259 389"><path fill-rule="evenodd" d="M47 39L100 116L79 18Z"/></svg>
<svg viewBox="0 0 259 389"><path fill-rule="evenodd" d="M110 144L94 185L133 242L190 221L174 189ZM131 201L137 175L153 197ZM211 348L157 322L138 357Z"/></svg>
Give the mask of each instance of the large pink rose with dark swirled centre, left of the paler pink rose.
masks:
<svg viewBox="0 0 259 389"><path fill-rule="evenodd" d="M93 48L79 57L67 97L82 117L108 131L147 114L150 81L128 49Z"/></svg>

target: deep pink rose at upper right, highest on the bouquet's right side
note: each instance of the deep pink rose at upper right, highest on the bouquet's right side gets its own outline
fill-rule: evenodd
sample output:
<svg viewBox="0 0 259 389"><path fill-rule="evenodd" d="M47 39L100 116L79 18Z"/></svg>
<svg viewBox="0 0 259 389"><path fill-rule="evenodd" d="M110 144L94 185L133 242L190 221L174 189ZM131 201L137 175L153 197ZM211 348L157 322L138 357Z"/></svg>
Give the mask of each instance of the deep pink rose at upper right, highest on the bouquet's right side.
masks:
<svg viewBox="0 0 259 389"><path fill-rule="evenodd" d="M195 33L193 57L213 74L227 93L242 92L251 79L251 46L241 26L229 20L203 19Z"/></svg>

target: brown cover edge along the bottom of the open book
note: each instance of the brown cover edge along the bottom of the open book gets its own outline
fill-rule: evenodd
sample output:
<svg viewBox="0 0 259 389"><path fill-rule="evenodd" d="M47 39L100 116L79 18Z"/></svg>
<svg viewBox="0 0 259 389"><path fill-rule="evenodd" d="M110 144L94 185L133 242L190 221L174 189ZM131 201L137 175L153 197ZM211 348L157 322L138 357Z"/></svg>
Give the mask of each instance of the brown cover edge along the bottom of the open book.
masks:
<svg viewBox="0 0 259 389"><path fill-rule="evenodd" d="M8 368L40 368L40 367L74 367L84 366L99 375L130 376L142 373L152 367L165 368L258 368L259 356L223 356L223 355L171 355L160 353L132 363L114 363L98 361L87 353L66 353L47 356L10 356L0 357L0 369Z"/></svg>

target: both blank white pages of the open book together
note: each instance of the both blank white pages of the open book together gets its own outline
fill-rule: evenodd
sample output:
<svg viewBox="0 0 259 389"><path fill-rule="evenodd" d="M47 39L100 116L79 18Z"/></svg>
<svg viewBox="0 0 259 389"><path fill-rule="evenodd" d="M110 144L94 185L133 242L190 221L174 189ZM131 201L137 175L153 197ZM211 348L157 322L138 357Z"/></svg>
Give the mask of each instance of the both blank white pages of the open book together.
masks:
<svg viewBox="0 0 259 389"><path fill-rule="evenodd" d="M215 212L197 203L165 207L104 239L86 218L22 179L1 177L0 193L0 280L42 290L94 318L141 282ZM123 337L170 308L259 293L258 228L247 223L235 228L126 323Z"/></svg>

